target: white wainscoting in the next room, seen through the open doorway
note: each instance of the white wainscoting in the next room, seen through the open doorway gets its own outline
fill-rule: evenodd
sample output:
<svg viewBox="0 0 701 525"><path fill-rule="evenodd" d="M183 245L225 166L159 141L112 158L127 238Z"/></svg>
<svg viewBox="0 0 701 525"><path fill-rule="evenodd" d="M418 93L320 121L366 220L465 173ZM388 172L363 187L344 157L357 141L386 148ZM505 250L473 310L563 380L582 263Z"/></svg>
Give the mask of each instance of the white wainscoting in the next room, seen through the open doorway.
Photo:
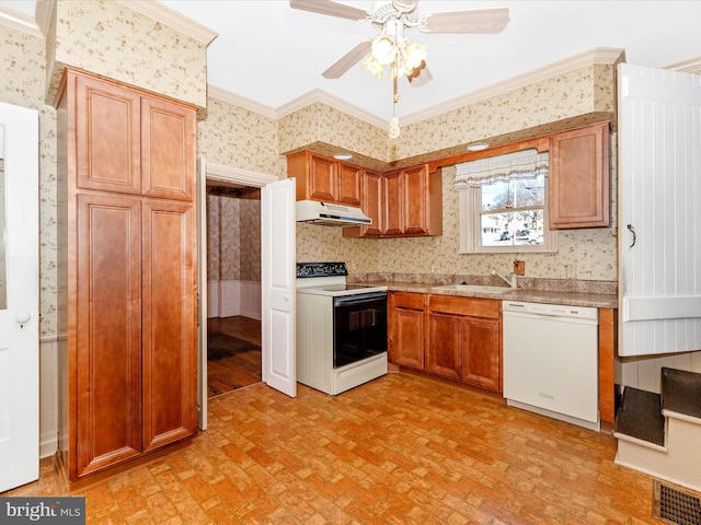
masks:
<svg viewBox="0 0 701 525"><path fill-rule="evenodd" d="M207 281L207 317L234 315L261 319L261 283Z"/></svg>

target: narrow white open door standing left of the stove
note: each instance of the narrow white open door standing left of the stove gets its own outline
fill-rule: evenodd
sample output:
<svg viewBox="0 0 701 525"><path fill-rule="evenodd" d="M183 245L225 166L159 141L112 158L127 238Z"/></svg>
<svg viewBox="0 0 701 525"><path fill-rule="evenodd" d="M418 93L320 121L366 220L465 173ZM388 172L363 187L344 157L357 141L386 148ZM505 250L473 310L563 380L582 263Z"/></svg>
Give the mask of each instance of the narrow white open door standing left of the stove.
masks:
<svg viewBox="0 0 701 525"><path fill-rule="evenodd" d="M297 396L295 329L296 208L295 179L261 192L261 303L263 381Z"/></svg>

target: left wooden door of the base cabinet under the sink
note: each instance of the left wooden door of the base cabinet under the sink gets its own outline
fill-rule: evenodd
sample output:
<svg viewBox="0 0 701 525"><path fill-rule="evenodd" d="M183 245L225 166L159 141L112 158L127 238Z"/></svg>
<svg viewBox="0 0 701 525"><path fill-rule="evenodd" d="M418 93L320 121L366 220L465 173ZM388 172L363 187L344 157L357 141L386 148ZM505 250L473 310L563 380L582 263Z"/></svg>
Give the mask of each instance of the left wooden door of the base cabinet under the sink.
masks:
<svg viewBox="0 0 701 525"><path fill-rule="evenodd" d="M460 380L460 316L428 315L426 372Z"/></svg>

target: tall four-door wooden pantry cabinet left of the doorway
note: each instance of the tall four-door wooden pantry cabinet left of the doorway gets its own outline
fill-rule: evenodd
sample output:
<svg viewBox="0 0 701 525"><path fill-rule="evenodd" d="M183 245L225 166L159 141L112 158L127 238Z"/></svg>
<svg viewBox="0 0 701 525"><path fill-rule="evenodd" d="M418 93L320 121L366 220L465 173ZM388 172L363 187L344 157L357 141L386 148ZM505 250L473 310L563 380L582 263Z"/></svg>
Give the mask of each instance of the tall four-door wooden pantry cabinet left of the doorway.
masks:
<svg viewBox="0 0 701 525"><path fill-rule="evenodd" d="M195 107L67 69L57 98L70 481L195 434Z"/></svg>

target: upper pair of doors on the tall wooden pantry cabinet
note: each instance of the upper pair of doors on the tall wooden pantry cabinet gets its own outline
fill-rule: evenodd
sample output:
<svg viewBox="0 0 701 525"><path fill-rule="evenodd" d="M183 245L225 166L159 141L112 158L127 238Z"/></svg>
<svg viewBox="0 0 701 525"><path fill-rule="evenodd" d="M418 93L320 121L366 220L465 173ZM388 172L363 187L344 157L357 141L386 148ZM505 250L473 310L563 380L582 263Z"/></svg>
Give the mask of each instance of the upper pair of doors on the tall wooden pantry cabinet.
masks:
<svg viewBox="0 0 701 525"><path fill-rule="evenodd" d="M68 96L74 93L78 188L193 199L191 108L93 77L70 74L67 82Z"/></svg>

